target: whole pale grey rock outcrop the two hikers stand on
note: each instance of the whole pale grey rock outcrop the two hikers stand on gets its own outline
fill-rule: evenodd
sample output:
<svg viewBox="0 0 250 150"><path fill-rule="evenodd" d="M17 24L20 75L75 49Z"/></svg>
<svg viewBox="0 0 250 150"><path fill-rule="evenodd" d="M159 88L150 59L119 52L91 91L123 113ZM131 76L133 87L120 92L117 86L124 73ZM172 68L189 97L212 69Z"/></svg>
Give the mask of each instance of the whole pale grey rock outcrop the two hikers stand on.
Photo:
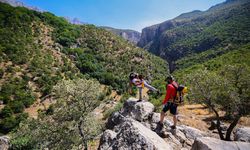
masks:
<svg viewBox="0 0 250 150"><path fill-rule="evenodd" d="M99 150L149 149L149 150L229 150L245 149L249 143L226 142L209 137L210 134L186 125L171 129L173 124L165 119L159 129L160 113L154 112L150 102L137 102L130 98L124 107L111 115L106 123L107 130L100 139ZM238 130L241 133L244 130ZM242 135L242 134L240 134ZM244 137L247 137L244 135ZM244 138L247 139L247 138ZM247 141L247 140L246 140Z"/></svg>

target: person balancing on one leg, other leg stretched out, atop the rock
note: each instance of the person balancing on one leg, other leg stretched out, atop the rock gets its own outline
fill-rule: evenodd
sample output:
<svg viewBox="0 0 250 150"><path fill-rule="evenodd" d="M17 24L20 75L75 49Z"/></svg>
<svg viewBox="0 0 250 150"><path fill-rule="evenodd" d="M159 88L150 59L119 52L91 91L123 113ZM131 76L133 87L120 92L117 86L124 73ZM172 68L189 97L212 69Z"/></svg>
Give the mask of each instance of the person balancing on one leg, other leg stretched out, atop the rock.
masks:
<svg viewBox="0 0 250 150"><path fill-rule="evenodd" d="M139 89L139 100L137 102L142 101L142 89L144 87L148 88L150 91L157 92L159 94L159 90L149 85L144 79L142 75L138 75L137 73L131 73L129 75L129 93L132 93L132 85L135 85Z"/></svg>

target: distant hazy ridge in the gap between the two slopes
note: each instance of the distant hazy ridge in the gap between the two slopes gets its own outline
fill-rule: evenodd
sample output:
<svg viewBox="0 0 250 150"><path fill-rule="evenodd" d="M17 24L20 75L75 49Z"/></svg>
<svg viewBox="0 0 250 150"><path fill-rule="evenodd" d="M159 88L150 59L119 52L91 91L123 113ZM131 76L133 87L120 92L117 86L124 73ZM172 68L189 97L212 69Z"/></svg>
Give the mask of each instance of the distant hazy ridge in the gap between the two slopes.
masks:
<svg viewBox="0 0 250 150"><path fill-rule="evenodd" d="M141 33L138 31L130 30L130 29L115 29L112 27L101 27L106 29L107 31L110 31L118 36L121 36L122 38L137 44L141 38Z"/></svg>

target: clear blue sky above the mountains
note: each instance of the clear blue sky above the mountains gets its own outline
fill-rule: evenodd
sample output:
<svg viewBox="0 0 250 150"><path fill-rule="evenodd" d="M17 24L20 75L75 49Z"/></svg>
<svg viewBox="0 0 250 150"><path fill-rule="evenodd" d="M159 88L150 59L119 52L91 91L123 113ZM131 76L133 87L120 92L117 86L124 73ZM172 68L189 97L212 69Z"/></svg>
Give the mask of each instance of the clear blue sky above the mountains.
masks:
<svg viewBox="0 0 250 150"><path fill-rule="evenodd" d="M57 16L118 29L158 24L193 10L207 10L225 0L20 0Z"/></svg>

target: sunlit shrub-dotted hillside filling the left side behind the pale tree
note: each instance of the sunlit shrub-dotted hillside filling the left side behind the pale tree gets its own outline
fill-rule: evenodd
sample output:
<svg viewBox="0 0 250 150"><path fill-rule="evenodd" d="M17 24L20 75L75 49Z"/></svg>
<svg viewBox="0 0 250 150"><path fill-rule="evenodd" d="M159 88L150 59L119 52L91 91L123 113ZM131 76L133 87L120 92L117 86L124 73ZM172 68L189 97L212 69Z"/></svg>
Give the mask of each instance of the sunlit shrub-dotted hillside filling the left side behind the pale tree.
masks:
<svg viewBox="0 0 250 150"><path fill-rule="evenodd" d="M63 79L97 79L122 93L131 71L148 79L168 72L162 59L93 25L0 3L0 132L27 118Z"/></svg>

